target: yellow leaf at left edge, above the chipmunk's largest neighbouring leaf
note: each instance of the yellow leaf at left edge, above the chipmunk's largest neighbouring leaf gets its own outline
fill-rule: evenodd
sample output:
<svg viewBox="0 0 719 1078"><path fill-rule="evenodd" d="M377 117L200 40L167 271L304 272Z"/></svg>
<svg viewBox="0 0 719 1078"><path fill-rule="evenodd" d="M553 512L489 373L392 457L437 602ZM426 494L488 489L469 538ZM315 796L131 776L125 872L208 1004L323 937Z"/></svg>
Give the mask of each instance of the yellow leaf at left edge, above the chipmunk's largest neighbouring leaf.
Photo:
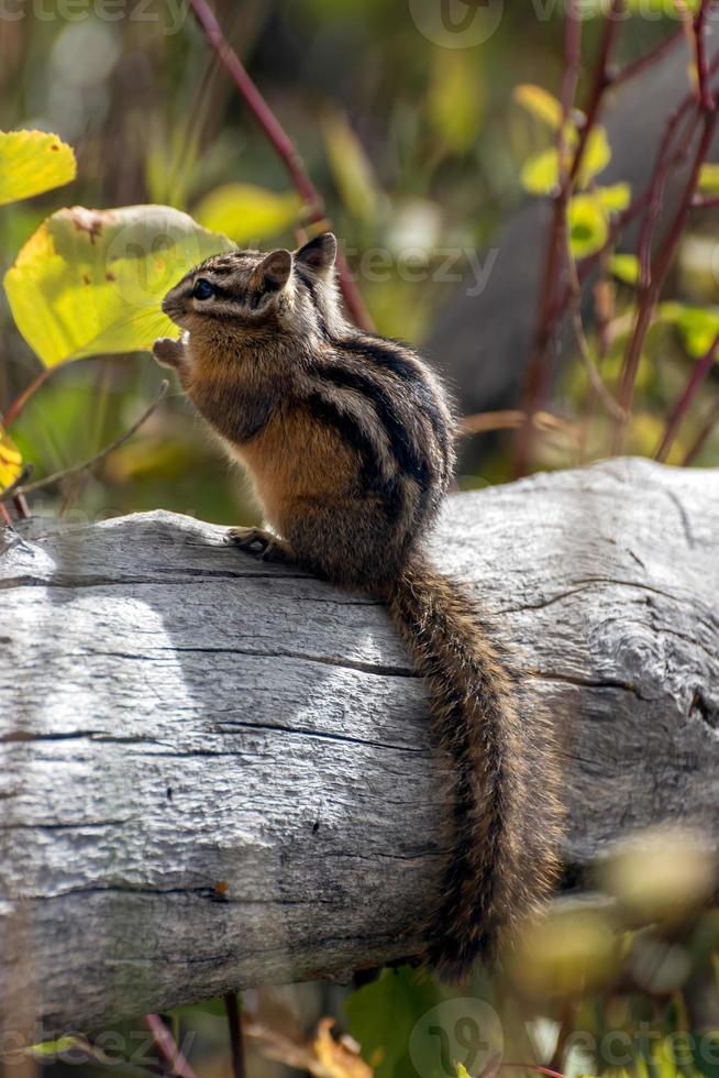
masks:
<svg viewBox="0 0 719 1078"><path fill-rule="evenodd" d="M0 131L0 206L75 179L70 146L46 131Z"/></svg>

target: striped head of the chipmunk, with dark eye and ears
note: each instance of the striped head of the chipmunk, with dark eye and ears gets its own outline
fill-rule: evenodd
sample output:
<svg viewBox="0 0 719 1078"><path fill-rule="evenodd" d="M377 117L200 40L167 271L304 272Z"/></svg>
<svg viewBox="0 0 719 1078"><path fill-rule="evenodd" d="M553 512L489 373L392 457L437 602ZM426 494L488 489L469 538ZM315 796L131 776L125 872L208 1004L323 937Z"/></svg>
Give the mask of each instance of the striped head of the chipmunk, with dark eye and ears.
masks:
<svg viewBox="0 0 719 1078"><path fill-rule="evenodd" d="M207 320L219 319L246 330L297 328L307 332L324 324L332 302L336 304L336 250L334 235L324 232L295 252L280 249L269 254L230 251L213 255L170 288L163 310L190 332Z"/></svg>

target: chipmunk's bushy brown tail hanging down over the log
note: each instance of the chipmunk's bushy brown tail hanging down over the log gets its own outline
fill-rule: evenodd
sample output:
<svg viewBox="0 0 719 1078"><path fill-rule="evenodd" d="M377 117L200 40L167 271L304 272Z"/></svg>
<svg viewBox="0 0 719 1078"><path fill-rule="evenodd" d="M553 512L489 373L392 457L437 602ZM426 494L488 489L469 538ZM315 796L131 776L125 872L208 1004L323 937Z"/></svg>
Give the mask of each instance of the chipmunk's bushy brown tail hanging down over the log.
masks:
<svg viewBox="0 0 719 1078"><path fill-rule="evenodd" d="M561 812L553 739L478 610L416 557L386 600L429 683L432 734L452 776L450 856L427 926L430 965L450 978L491 960L551 887Z"/></svg>

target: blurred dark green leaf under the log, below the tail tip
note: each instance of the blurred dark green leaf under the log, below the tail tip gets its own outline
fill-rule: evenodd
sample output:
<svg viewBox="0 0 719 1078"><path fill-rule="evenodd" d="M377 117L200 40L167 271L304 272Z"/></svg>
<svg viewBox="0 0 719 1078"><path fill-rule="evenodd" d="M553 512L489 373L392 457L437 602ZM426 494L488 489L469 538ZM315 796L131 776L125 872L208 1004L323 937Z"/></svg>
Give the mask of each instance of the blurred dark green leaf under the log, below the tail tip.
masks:
<svg viewBox="0 0 719 1078"><path fill-rule="evenodd" d="M417 1078L409 1041L417 1022L443 999L441 990L403 966L385 969L377 980L353 992L345 1002L350 1033L375 1078Z"/></svg>

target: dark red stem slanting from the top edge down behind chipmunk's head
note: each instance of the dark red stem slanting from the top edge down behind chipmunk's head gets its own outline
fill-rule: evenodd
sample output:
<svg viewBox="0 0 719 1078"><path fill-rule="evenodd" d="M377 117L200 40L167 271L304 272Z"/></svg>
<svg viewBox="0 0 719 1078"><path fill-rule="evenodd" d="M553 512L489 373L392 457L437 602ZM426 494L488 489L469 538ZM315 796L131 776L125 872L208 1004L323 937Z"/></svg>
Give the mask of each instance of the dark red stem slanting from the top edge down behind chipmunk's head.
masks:
<svg viewBox="0 0 719 1078"><path fill-rule="evenodd" d="M265 101L264 97L245 70L240 57L222 33L214 12L207 3L207 0L190 0L190 4L208 43L214 50L219 59L226 68L245 105L262 128L264 134L267 136L267 140L277 153L277 156L285 165L285 168L289 174L289 178L295 185L300 197L303 199L308 209L307 220L312 224L318 224L321 221L324 221L324 202L322 196L310 179L307 169L305 168L302 158L297 152L295 143ZM352 279L350 267L342 251L338 253L338 278L340 282L342 296L355 322L361 329L372 332L372 319L369 318L362 296L360 295L360 292Z"/></svg>

